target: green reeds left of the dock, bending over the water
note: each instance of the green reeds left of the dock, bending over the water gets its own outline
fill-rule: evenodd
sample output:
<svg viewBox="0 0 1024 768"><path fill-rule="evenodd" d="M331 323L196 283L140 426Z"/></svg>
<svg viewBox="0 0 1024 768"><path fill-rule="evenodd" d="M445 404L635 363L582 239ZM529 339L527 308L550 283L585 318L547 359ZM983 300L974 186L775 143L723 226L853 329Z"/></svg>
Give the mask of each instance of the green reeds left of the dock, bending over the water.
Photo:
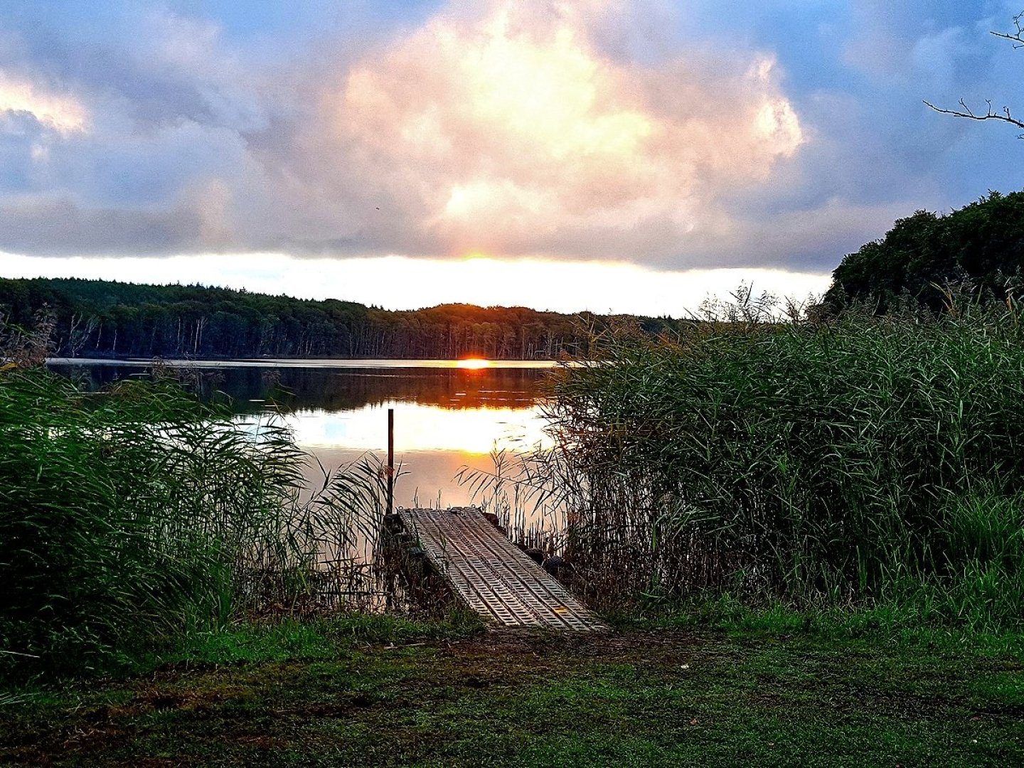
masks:
<svg viewBox="0 0 1024 768"><path fill-rule="evenodd" d="M307 461L273 417L242 423L173 382L88 394L0 373L0 673L104 668L344 600L377 536L380 474L306 489Z"/></svg>

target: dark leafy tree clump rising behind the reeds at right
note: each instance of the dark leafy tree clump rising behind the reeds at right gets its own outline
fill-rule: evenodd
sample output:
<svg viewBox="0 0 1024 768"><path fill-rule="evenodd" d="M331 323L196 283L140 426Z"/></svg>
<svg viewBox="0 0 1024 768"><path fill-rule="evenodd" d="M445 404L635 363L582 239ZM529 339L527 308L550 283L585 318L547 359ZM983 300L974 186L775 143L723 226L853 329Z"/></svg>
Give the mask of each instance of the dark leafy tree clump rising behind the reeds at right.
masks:
<svg viewBox="0 0 1024 768"><path fill-rule="evenodd" d="M991 193L939 216L918 211L899 219L882 240L851 253L833 272L822 302L839 309L867 302L887 311L910 300L942 308L938 286L964 284L983 299L1020 294L1024 275L1024 193Z"/></svg>

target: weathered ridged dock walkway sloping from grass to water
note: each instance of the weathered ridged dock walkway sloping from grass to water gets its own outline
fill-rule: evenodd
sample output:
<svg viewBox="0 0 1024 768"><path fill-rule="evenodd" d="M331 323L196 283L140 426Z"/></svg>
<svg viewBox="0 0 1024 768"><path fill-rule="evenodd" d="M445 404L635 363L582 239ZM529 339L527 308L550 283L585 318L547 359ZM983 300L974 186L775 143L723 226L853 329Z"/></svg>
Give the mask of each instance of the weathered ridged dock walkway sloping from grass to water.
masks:
<svg viewBox="0 0 1024 768"><path fill-rule="evenodd" d="M406 530L466 601L508 627L600 631L605 626L478 510L399 510Z"/></svg>

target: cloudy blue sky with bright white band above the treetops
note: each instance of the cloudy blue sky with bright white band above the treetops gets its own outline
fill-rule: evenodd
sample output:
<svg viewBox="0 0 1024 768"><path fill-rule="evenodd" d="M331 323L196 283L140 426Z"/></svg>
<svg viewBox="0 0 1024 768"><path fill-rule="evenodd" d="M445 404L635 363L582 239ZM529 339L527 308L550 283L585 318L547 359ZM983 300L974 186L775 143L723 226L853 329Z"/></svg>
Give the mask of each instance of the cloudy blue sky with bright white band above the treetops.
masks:
<svg viewBox="0 0 1024 768"><path fill-rule="evenodd" d="M0 276L679 316L1024 186L988 0L5 0ZM1017 102L1024 114L1024 95Z"/></svg>

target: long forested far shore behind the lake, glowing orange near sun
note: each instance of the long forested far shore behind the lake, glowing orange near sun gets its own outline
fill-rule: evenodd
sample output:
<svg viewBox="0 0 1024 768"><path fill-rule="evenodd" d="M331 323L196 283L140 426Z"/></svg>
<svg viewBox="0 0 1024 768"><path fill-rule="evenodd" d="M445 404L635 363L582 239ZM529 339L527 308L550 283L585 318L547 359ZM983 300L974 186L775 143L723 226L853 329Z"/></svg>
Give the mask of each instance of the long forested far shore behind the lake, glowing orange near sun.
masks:
<svg viewBox="0 0 1024 768"><path fill-rule="evenodd" d="M55 353L81 357L557 358L586 353L614 318L442 304L388 311L203 286L0 279L0 315L24 328L46 308ZM639 317L652 335L685 321Z"/></svg>

